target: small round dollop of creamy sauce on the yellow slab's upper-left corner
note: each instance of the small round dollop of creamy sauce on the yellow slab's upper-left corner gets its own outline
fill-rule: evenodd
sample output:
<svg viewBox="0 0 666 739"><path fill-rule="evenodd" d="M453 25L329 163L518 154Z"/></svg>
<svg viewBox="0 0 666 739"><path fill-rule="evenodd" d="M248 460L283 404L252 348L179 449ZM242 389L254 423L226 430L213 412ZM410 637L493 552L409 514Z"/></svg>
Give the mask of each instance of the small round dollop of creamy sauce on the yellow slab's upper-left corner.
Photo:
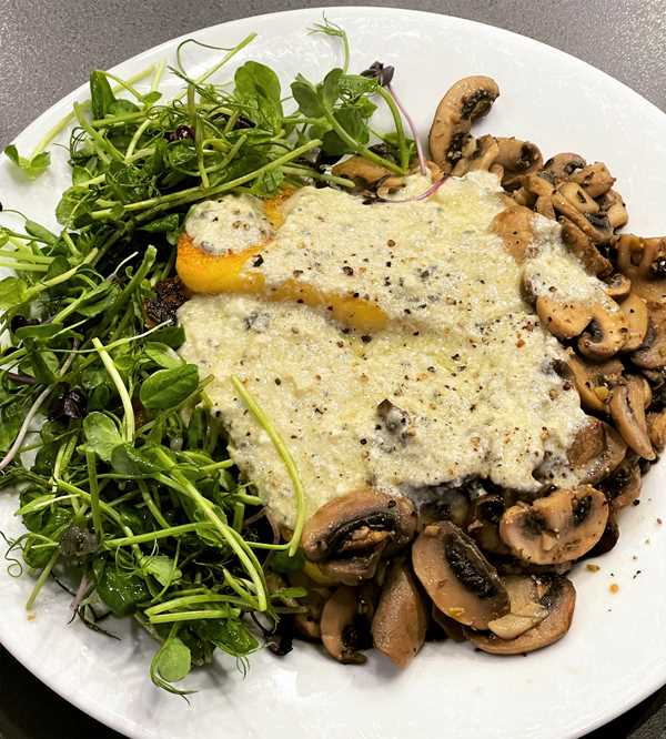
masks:
<svg viewBox="0 0 666 739"><path fill-rule="evenodd" d="M256 198L226 195L194 205L188 213L186 231L198 246L223 255L264 243L271 224Z"/></svg>

